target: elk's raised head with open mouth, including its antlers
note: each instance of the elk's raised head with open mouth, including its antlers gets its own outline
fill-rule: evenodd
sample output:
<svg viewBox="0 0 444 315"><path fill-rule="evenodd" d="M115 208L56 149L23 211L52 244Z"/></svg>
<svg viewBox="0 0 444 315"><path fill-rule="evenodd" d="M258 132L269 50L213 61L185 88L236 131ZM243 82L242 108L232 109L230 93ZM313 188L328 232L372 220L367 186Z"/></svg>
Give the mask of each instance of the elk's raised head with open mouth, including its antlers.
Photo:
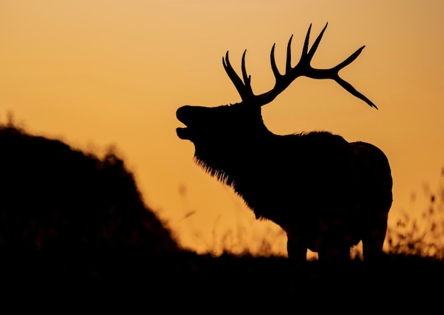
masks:
<svg viewBox="0 0 444 315"><path fill-rule="evenodd" d="M226 179L227 173L233 171L230 168L234 164L238 164L239 159L242 159L242 156L237 154L240 149L243 149L243 151L248 150L250 146L267 141L267 135L274 136L265 127L260 108L262 105L273 101L279 93L284 91L299 76L308 76L313 79L333 79L353 96L365 101L371 107L377 108L372 101L339 76L339 71L353 62L365 46L360 47L350 57L331 69L311 67L311 59L313 59L313 55L318 48L319 42L321 42L327 25L328 23L309 49L310 25L301 58L294 67L292 67L291 54L293 35L290 37L287 45L287 60L284 74L281 74L277 69L274 59L275 44L272 46L270 62L275 84L270 91L260 95L255 95L252 92L251 77L245 69L246 50L242 56L242 79L231 66L228 52L226 52L226 56L222 58L223 67L238 90L242 101L214 108L185 105L177 109L176 113L177 119L187 126L177 128L177 136L180 139L188 139L194 143L196 150L194 156L201 166L204 166L212 175Z"/></svg>

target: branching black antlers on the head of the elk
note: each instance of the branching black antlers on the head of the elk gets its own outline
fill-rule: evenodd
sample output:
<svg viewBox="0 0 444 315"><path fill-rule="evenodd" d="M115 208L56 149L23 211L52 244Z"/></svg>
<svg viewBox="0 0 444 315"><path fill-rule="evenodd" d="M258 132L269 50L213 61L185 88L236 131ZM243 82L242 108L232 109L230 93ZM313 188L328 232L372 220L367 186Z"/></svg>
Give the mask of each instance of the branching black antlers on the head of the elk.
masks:
<svg viewBox="0 0 444 315"><path fill-rule="evenodd" d="M360 55L362 50L365 46L360 47L358 50L353 52L350 57L345 59L343 62L338 64L337 66L331 68L331 69L315 69L311 67L311 59L313 58L314 53L316 52L316 49L318 49L319 42L321 42L321 38L323 36L324 31L327 28L328 23L326 23L326 26L321 30L321 33L318 35L318 38L313 42L313 45L311 46L309 50L309 37L310 37L310 30L311 30L311 24L309 26L309 30L307 32L304 47L302 49L302 55L301 59L299 59L298 64L296 64L295 67L292 67L292 51L291 51L291 45L292 45L292 38L293 35L290 37L287 45L287 62L285 64L285 74L281 74L276 66L276 61L274 60L274 46L272 47L272 51L270 53L270 62L272 71L274 74L274 78L276 79L276 83L274 84L274 87L265 93L262 93L258 96L256 96L252 92L251 88L251 76L247 74L247 71L245 70L245 50L242 55L242 76L243 79L240 79L238 74L234 71L233 67L231 66L230 59L228 59L228 52L226 52L225 58L222 57L222 63L223 67L225 68L226 73L230 77L231 81L233 81L233 84L235 88L238 90L240 97L242 98L243 102L253 102L257 105L265 105L267 103L270 103L271 101L276 98L276 96L279 95L282 91L284 91L287 86L289 86L294 79L296 79L299 76L308 76L309 78L313 79L332 79L336 81L340 86L345 88L348 92L350 92L353 96L356 96L357 98L360 98L362 101L365 101L368 105L371 107L374 107L377 109L376 105L372 101L370 101L367 97L365 97L362 93L358 92L356 88L354 88L351 84L349 84L344 79L340 78L339 71L343 69L344 67L348 66L348 64L351 64L357 56Z"/></svg>

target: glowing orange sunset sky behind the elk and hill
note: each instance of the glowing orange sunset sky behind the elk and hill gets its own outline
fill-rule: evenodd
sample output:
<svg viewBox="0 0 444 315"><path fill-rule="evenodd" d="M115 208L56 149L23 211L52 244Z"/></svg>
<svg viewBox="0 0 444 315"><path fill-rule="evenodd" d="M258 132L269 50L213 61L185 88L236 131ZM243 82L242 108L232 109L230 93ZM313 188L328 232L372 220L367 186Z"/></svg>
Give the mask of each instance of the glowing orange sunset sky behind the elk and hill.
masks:
<svg viewBox="0 0 444 315"><path fill-rule="evenodd" d="M365 45L340 74L379 110L333 81L300 78L262 116L276 134L327 130L382 149L393 224L402 211L424 210L444 166L443 16L442 0L2 0L0 120L10 112L30 133L97 154L116 147L184 246L254 251L267 239L284 253L274 224L256 222L194 164L194 146L176 135L177 108L240 101L222 66L227 50L239 72L247 49L253 91L270 90L273 43L283 69L289 37L296 64L310 23L313 42L328 22L313 67L333 67Z"/></svg>

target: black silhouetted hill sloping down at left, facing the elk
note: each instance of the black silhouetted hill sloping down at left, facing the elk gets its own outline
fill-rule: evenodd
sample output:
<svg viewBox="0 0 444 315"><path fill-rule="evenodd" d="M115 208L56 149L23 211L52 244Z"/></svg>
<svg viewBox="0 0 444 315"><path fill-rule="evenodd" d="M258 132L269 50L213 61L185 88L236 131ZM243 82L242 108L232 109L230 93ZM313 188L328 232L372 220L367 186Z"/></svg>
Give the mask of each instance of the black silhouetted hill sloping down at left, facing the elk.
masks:
<svg viewBox="0 0 444 315"><path fill-rule="evenodd" d="M178 251L133 174L67 144L0 127L0 248Z"/></svg>

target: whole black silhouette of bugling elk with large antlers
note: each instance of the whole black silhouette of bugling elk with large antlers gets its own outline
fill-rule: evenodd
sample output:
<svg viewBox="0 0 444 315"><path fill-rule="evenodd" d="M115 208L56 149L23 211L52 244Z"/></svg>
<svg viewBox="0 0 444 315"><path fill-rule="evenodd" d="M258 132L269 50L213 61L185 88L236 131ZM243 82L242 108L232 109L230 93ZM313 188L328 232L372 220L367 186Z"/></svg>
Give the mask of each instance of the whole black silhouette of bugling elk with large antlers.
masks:
<svg viewBox="0 0 444 315"><path fill-rule="evenodd" d="M299 76L333 79L348 92L377 108L340 78L365 46L331 69L311 67L328 23L309 49L311 25L301 59L291 65L292 37L287 45L285 74L277 69L274 45L270 60L274 87L255 95L242 57L242 77L228 59L223 67L242 101L214 108L185 105L177 119L180 139L194 143L194 160L211 176L243 197L257 219L270 219L287 232L289 258L306 261L306 251L327 262L350 260L350 248L362 241L365 260L382 253L392 205L392 176L384 153L365 142L347 142L330 132L277 135L267 130L261 106L276 98Z"/></svg>

